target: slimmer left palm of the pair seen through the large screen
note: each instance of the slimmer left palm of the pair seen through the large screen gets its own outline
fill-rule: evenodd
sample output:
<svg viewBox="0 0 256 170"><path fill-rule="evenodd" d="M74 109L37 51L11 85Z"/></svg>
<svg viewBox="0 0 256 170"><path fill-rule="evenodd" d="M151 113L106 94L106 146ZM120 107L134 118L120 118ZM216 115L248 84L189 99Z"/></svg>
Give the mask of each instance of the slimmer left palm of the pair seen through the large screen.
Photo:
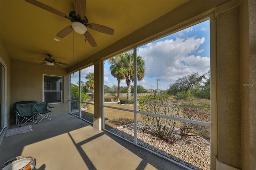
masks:
<svg viewBox="0 0 256 170"><path fill-rule="evenodd" d="M108 63L111 64L110 66L110 73L116 78L117 80L117 97L116 100L120 101L120 80L122 79L122 75L118 74L117 71L121 67L121 63L118 60L118 57L113 57L108 60Z"/></svg>

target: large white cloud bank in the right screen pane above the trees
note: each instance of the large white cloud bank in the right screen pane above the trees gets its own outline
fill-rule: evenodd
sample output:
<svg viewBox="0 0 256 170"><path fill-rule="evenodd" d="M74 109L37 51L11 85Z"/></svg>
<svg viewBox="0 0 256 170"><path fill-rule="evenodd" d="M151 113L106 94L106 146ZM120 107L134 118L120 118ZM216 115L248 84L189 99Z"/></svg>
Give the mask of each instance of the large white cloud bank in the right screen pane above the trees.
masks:
<svg viewBox="0 0 256 170"><path fill-rule="evenodd" d="M210 58L190 55L202 45L205 38L176 38L148 43L138 49L138 55L145 59L145 78L158 77L161 81L173 83L178 78L210 68ZM209 61L209 62L208 62ZM208 62L208 63L207 63Z"/></svg>

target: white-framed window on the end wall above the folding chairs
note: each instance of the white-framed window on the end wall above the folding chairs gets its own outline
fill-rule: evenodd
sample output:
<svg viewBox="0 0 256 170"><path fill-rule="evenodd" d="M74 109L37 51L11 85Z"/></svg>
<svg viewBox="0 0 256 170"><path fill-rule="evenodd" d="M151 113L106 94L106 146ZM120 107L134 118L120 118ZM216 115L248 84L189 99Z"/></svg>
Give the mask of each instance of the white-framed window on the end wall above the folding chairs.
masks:
<svg viewBox="0 0 256 170"><path fill-rule="evenodd" d="M62 103L62 77L44 75L43 97L48 103Z"/></svg>

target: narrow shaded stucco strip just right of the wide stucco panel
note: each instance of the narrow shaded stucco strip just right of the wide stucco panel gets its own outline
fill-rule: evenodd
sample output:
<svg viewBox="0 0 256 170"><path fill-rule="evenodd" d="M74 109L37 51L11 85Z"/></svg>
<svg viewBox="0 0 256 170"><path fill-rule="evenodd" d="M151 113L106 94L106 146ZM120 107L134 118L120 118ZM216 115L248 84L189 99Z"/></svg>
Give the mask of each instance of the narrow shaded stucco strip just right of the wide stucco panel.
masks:
<svg viewBox="0 0 256 170"><path fill-rule="evenodd" d="M250 57L249 57L249 20L248 2L244 1L240 6L240 77L241 77L241 167L249 169L250 160L250 116L249 116L249 84Z"/></svg>

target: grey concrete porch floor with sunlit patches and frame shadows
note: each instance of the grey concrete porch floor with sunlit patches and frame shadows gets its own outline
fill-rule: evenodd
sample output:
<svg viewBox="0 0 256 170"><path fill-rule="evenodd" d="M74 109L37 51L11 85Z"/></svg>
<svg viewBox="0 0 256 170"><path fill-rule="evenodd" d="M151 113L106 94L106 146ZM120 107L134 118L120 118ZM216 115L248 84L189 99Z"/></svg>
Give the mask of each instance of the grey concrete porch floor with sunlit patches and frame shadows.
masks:
<svg viewBox="0 0 256 170"><path fill-rule="evenodd" d="M70 114L26 125L33 131L3 139L1 164L23 155L36 158L36 170L184 169Z"/></svg>

